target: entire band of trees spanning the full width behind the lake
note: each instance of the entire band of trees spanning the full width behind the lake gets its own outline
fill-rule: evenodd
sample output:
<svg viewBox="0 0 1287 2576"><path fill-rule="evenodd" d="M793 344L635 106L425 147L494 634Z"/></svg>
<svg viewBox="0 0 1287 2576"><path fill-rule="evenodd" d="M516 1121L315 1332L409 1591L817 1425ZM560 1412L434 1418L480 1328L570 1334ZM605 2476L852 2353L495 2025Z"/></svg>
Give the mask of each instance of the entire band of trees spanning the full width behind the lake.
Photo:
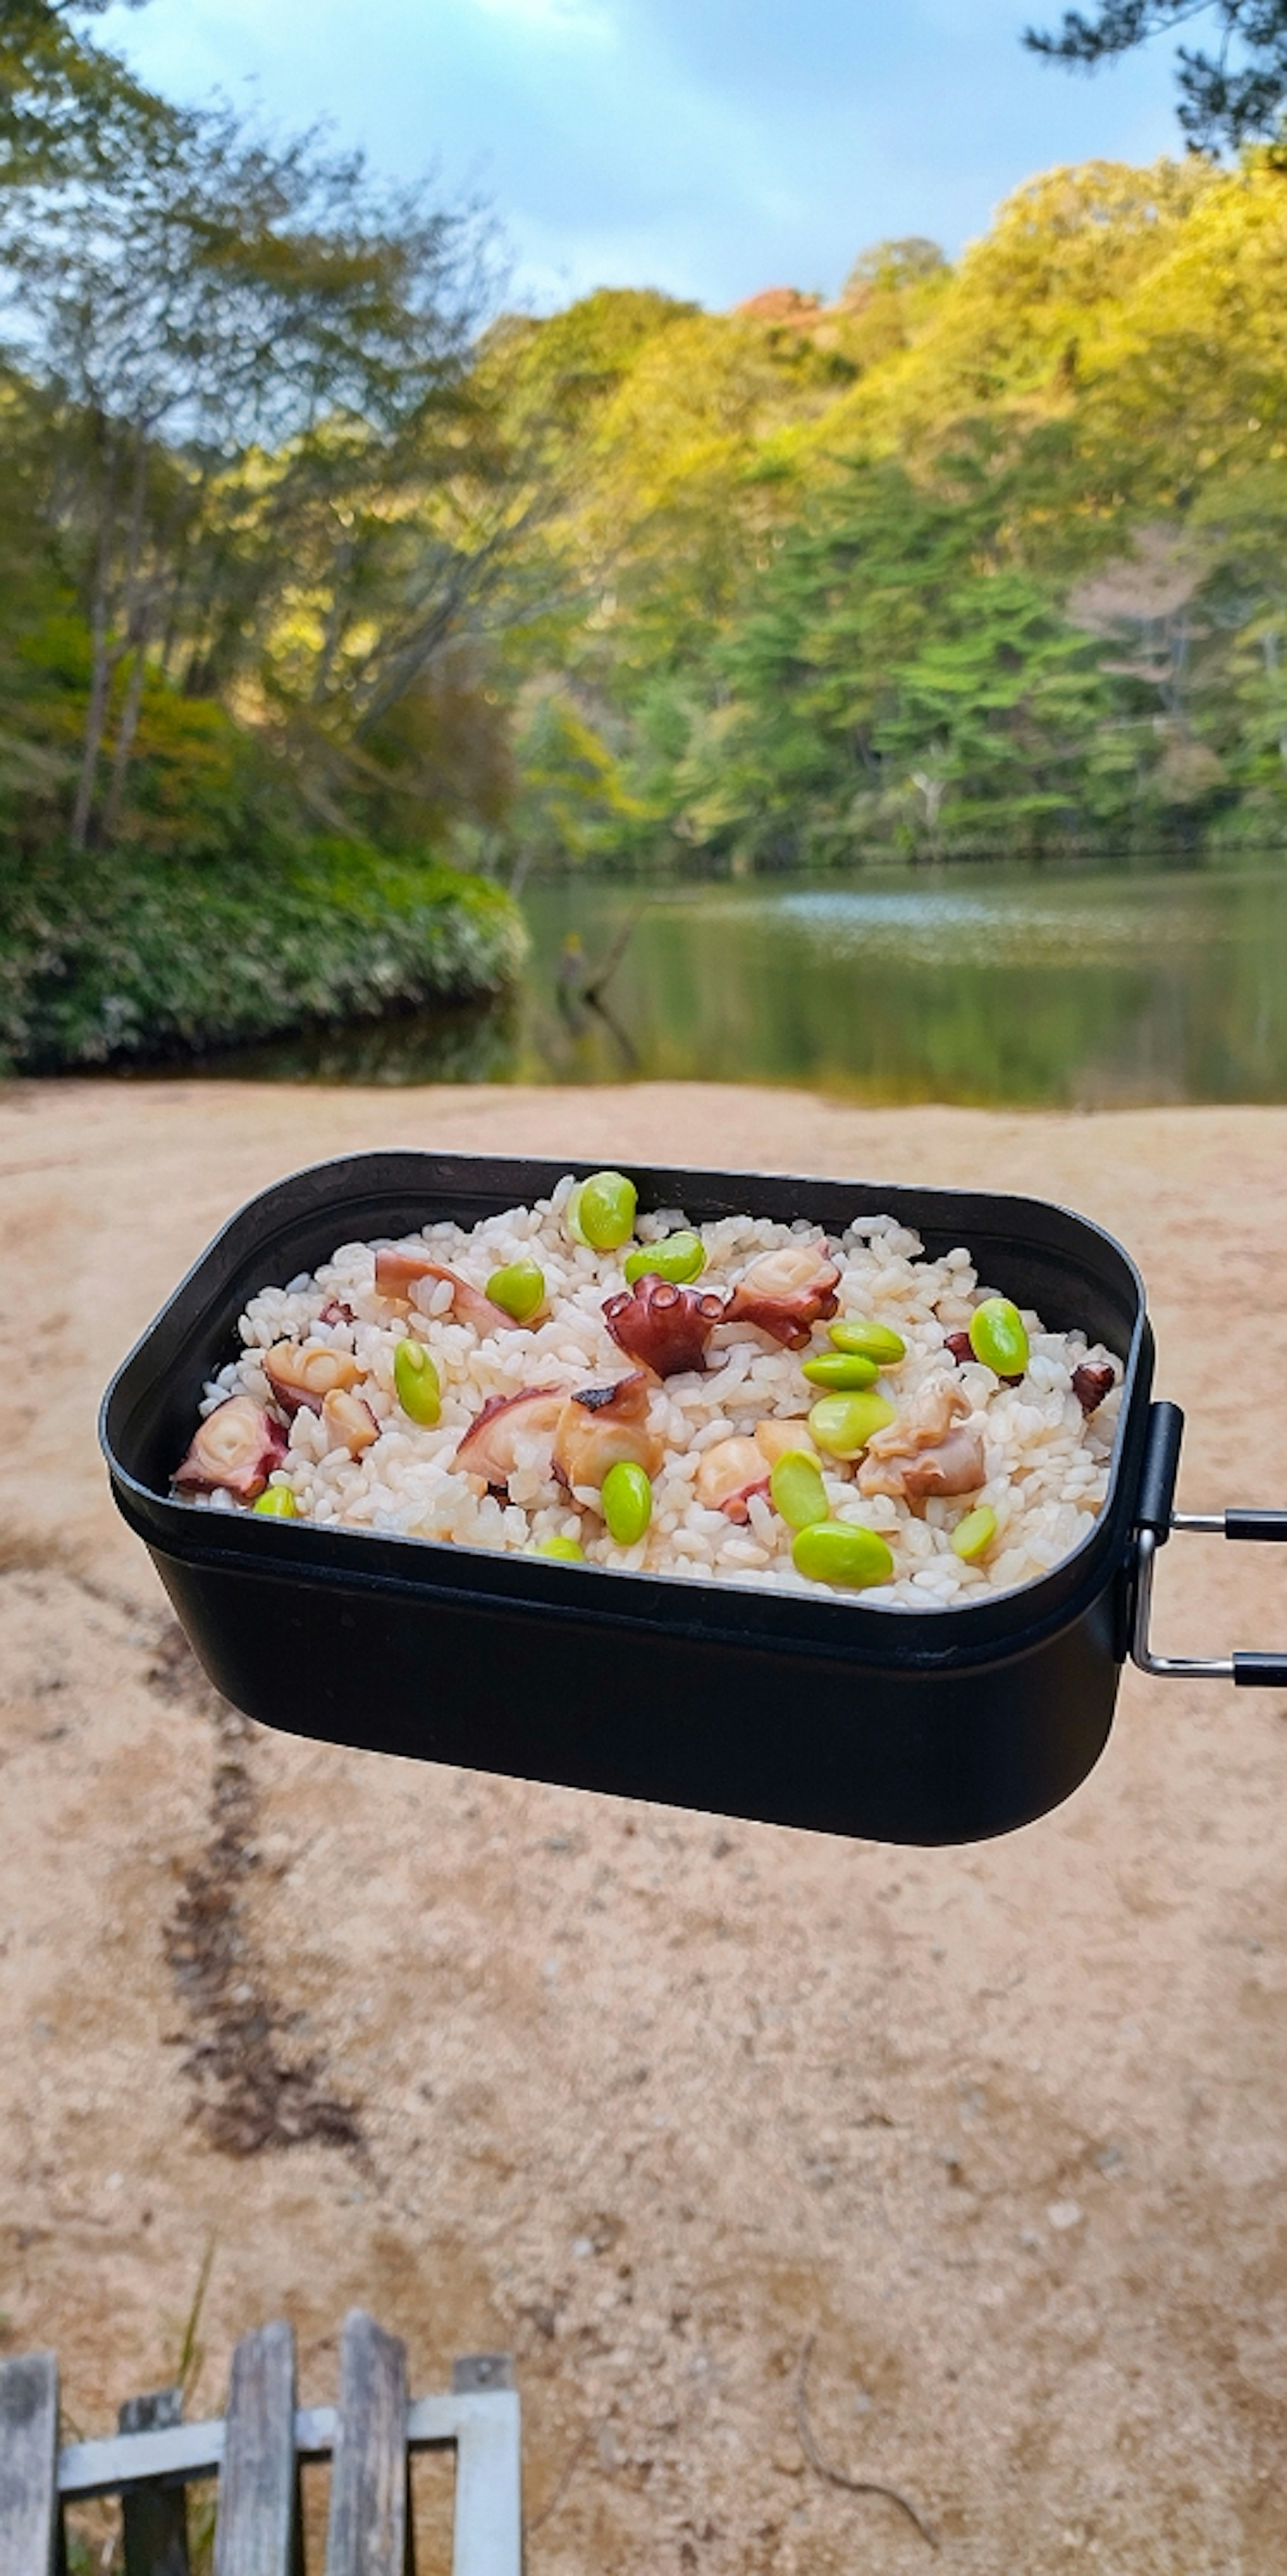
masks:
<svg viewBox="0 0 1287 2576"><path fill-rule="evenodd" d="M1284 265L1251 147L1040 173L834 304L497 312L471 209L13 0L0 835L515 881L1282 840Z"/></svg>

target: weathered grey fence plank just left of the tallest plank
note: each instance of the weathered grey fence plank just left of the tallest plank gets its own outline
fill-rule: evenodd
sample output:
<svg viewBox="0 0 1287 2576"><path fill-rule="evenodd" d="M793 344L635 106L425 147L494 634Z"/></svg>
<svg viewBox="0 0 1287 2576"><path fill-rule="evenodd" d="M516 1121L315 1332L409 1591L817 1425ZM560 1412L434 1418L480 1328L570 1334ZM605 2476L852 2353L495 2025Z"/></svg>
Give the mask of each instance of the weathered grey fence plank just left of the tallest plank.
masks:
<svg viewBox="0 0 1287 2576"><path fill-rule="evenodd" d="M232 2354L214 2576L296 2576L299 2563L296 2339L278 2321Z"/></svg>

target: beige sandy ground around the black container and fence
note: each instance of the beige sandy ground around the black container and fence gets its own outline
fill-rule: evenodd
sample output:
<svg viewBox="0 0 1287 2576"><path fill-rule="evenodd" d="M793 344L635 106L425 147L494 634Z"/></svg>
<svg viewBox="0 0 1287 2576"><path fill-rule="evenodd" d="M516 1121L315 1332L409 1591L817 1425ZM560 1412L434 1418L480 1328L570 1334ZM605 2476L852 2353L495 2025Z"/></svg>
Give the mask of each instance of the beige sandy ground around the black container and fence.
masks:
<svg viewBox="0 0 1287 2576"><path fill-rule="evenodd" d="M1151 1280L1189 1507L1287 1489L1287 1110L33 1084L0 1097L0 2336L190 2409L363 2300L507 2347L530 2576L1287 2561L1287 1698L1127 1674L1001 1844L875 1844L296 1744L221 1710L106 1497L103 1381L224 1213L363 1144L1058 1195ZM865 1193L867 1195L867 1193ZM1287 1643L1181 1540L1161 1628ZM610 1687L610 1677L607 1677ZM430 2537L425 2558L445 2566Z"/></svg>

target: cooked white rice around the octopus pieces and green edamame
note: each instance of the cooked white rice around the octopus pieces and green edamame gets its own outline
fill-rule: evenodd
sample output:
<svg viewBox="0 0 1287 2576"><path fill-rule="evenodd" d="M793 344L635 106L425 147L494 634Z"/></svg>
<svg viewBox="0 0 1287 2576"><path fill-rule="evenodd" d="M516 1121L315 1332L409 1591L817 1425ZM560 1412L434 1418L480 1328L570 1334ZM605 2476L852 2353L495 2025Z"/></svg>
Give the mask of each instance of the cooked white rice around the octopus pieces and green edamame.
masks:
<svg viewBox="0 0 1287 2576"><path fill-rule="evenodd" d="M623 1288L623 1255L574 1244L561 1224L571 1193L561 1180L551 1198L530 1208L489 1216L471 1231L430 1224L402 1236L486 1288L505 1262L533 1257L546 1273L548 1311L533 1327L476 1332L450 1309L450 1283L430 1291L425 1306L407 1306L376 1291L376 1244L340 1244L311 1278L288 1288L263 1288L239 1321L242 1358L206 1386L201 1412L229 1396L270 1404L263 1352L281 1340L353 1352L360 1368L355 1394L371 1406L378 1440L353 1458L329 1448L322 1417L301 1409L288 1425L288 1455L275 1484L288 1484L301 1517L347 1530L386 1530L402 1538L445 1540L466 1548L517 1553L543 1538L577 1538L595 1566L646 1569L677 1579L726 1579L819 1592L790 1561L790 1528L764 1497L749 1499L746 1525L695 1499L698 1458L716 1440L752 1432L762 1417L803 1417L819 1388L801 1376L806 1352L767 1347L744 1327L716 1327L705 1373L659 1381L651 1427L664 1437L664 1466L654 1479L654 1515L646 1538L623 1548L607 1535L597 1510L577 1504L551 1473L551 1435L533 1432L520 1445L510 1499L456 1466L456 1448L489 1396L523 1386L602 1386L636 1363L613 1342L602 1301ZM638 1242L685 1226L680 1208L641 1216ZM746 1265L793 1239L819 1242L819 1226L770 1224L726 1216L695 1229L705 1244L700 1288L731 1288ZM384 1239L386 1242L386 1239ZM1079 1332L1045 1332L1037 1314L1019 1309L1030 1334L1030 1365L1019 1386L1004 1386L991 1368L955 1368L945 1337L968 1327L986 1296L1004 1296L1006 1280L981 1283L970 1252L958 1247L927 1260L909 1226L891 1216L855 1216L842 1236L829 1236L839 1262L842 1316L891 1324L906 1342L906 1360L878 1381L878 1394L898 1409L945 1368L970 1401L970 1422L983 1432L986 1484L963 1499L929 1499L919 1510L891 1497L862 1497L852 1468L821 1461L834 1520L880 1530L893 1551L896 1577L865 1592L837 1595L865 1607L947 1610L996 1592L1012 1592L1055 1566L1086 1535L1109 1479L1109 1450L1120 1406L1120 1360ZM324 1324L322 1309L342 1301L355 1321ZM404 1334L420 1337L440 1370L443 1414L432 1430L409 1422L394 1394L394 1352ZM813 1332L813 1352L826 1350L826 1329ZM1115 1388L1086 1419L1073 1394L1073 1368L1112 1363ZM991 1504L996 1540L983 1564L963 1564L950 1535L965 1512ZM227 1492L203 1510L242 1510Z"/></svg>

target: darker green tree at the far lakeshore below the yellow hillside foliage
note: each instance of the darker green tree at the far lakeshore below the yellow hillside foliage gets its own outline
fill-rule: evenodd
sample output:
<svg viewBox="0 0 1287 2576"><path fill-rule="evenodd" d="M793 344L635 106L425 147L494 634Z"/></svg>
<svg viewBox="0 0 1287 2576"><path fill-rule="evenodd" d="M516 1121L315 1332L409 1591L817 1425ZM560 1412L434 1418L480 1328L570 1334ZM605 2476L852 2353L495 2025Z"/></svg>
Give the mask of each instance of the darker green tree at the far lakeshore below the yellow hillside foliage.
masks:
<svg viewBox="0 0 1287 2576"><path fill-rule="evenodd" d="M677 762L687 840L759 860L1076 840L1112 698L999 520L973 459L955 489L852 466L813 502L716 657Z"/></svg>

